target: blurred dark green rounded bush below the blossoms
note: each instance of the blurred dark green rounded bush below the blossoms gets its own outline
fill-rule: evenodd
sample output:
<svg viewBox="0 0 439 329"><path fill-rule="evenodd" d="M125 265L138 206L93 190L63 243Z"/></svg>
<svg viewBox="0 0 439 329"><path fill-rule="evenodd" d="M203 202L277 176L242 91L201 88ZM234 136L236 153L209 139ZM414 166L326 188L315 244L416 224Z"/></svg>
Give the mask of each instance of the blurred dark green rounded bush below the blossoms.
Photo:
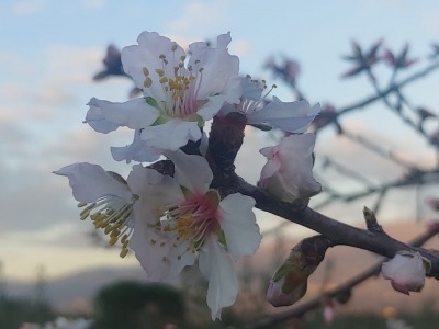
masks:
<svg viewBox="0 0 439 329"><path fill-rule="evenodd" d="M94 299L93 329L153 329L181 325L181 293L164 284L121 282L104 287Z"/></svg>

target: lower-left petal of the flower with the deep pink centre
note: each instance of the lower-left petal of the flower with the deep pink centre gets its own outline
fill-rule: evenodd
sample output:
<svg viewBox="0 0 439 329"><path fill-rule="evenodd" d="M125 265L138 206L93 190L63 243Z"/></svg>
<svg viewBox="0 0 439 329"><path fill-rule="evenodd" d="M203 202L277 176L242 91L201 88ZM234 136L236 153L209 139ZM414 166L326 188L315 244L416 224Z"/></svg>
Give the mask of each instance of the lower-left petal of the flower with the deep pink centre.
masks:
<svg viewBox="0 0 439 329"><path fill-rule="evenodd" d="M154 228L159 220L145 203L134 204L135 229L130 239L134 251L149 281L162 281L169 277L170 261L167 258L172 245L169 237Z"/></svg>

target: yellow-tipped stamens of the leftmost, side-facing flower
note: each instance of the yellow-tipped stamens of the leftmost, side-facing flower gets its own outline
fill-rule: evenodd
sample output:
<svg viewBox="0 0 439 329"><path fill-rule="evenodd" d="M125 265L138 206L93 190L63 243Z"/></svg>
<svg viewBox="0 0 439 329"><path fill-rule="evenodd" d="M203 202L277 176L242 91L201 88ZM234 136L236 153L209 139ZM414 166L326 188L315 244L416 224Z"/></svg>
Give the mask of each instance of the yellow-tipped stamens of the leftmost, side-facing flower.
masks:
<svg viewBox="0 0 439 329"><path fill-rule="evenodd" d="M128 253L130 237L134 229L133 204L117 196L105 195L91 204L81 202L78 207L85 207L80 213L81 220L90 217L97 229L102 228L105 235L110 234L110 246L121 239L121 258L124 258Z"/></svg>

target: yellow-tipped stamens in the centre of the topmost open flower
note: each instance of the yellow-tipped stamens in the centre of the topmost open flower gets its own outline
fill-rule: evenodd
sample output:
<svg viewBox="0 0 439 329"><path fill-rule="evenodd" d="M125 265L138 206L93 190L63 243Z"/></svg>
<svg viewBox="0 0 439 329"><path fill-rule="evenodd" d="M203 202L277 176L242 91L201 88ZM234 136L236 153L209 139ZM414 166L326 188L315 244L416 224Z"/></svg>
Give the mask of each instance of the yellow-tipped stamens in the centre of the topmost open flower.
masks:
<svg viewBox="0 0 439 329"><path fill-rule="evenodd" d="M171 49L175 54L177 45L173 45ZM204 70L203 67L199 66L200 60L195 60L194 63L196 68L192 66L185 68L185 56L181 56L180 63L170 69L166 56L160 55L159 58L162 65L160 68L156 68L153 73L158 75L160 88L150 88L153 86L153 79L149 76L149 70L144 67L144 92L150 95L157 102L158 110L169 117L184 118L196 113L200 107L196 98L203 80L202 72ZM177 60L173 60L173 63L177 63ZM169 71L173 71L173 75L167 76ZM159 90L161 90L161 94L157 94Z"/></svg>

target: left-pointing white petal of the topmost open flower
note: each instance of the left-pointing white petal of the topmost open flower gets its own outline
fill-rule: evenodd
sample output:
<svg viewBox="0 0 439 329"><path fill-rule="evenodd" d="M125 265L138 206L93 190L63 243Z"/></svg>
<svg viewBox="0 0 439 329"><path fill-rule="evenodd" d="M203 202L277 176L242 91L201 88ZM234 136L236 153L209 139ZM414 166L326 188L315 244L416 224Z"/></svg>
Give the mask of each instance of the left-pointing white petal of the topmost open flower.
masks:
<svg viewBox="0 0 439 329"><path fill-rule="evenodd" d="M100 109L106 121L132 129L148 127L160 115L159 111L149 105L145 99L135 99L124 103L94 99L93 104Z"/></svg>

